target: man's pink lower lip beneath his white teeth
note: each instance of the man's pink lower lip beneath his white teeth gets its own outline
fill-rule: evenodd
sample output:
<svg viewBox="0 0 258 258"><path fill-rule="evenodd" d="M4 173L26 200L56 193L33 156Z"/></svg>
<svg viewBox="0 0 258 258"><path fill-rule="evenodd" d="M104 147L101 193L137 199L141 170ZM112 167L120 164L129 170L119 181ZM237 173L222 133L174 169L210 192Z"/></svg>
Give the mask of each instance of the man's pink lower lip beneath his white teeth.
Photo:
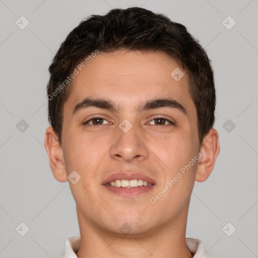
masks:
<svg viewBox="0 0 258 258"><path fill-rule="evenodd" d="M133 197L133 196L139 196L142 195L143 193L146 193L150 191L154 184L152 185L147 185L147 186L137 186L133 188L125 188L125 187L116 187L112 185L103 185L106 187L109 191L112 191L116 195L119 196L124 196L124 197Z"/></svg>

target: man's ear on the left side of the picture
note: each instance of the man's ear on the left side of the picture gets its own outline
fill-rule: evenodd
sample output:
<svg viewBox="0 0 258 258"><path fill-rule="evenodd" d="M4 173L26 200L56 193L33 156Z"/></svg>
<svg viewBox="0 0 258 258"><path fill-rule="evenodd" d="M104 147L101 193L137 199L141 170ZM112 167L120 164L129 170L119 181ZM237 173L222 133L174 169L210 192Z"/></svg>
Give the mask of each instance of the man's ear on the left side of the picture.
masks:
<svg viewBox="0 0 258 258"><path fill-rule="evenodd" d="M62 148L51 126L46 129L45 148L54 178L59 182L66 182L68 178Z"/></svg>

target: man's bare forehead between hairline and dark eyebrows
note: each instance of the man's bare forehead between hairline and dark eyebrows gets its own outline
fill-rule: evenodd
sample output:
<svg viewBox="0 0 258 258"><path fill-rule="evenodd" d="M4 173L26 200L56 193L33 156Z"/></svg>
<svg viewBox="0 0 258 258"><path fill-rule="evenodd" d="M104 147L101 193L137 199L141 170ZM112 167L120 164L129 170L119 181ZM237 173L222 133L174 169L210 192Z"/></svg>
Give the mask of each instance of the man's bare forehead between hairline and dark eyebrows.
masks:
<svg viewBox="0 0 258 258"><path fill-rule="evenodd" d="M176 81L173 71L183 76ZM128 109L145 99L172 97L189 106L188 77L178 64L162 52L116 50L100 52L73 79L68 103L70 110L85 97L109 98ZM180 74L181 73L181 74Z"/></svg>

